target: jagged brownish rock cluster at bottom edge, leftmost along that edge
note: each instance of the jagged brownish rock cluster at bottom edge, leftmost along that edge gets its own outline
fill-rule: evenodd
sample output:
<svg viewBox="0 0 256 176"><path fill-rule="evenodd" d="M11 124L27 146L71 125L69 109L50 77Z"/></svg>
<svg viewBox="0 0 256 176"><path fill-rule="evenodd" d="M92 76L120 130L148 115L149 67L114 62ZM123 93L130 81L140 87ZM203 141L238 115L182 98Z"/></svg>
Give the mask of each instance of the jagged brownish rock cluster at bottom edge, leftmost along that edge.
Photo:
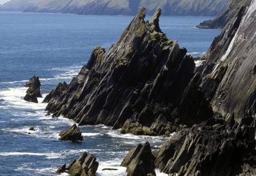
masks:
<svg viewBox="0 0 256 176"><path fill-rule="evenodd" d="M95 176L98 169L98 162L93 154L82 153L77 160L73 160L66 168L66 164L61 166L56 173L68 172L71 176Z"/></svg>

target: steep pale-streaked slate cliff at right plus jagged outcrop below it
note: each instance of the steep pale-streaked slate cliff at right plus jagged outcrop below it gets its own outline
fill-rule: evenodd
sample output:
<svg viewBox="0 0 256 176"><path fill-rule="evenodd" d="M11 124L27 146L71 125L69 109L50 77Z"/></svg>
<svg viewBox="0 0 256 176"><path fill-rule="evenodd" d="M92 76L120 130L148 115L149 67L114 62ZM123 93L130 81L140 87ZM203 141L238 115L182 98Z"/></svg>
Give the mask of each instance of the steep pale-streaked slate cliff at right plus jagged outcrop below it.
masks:
<svg viewBox="0 0 256 176"><path fill-rule="evenodd" d="M197 68L187 95L199 89L212 115L177 132L161 147L155 166L165 173L256 174L255 7L253 0L235 16L213 41L207 61Z"/></svg>

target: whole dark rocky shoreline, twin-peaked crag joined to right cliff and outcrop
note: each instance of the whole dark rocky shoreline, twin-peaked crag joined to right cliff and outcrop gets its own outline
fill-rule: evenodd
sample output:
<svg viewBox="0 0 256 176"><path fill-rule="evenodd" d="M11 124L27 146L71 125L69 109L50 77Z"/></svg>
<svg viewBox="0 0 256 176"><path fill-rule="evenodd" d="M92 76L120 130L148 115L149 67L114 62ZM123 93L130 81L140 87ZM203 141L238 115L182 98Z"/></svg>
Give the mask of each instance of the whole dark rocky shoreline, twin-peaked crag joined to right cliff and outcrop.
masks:
<svg viewBox="0 0 256 176"><path fill-rule="evenodd" d="M147 22L142 8L108 51L94 48L46 110L122 133L176 132L157 153L149 143L132 149L122 162L127 175L155 175L155 168L170 175L255 175L255 6L252 0L234 16L200 67L161 31L160 8Z"/></svg>

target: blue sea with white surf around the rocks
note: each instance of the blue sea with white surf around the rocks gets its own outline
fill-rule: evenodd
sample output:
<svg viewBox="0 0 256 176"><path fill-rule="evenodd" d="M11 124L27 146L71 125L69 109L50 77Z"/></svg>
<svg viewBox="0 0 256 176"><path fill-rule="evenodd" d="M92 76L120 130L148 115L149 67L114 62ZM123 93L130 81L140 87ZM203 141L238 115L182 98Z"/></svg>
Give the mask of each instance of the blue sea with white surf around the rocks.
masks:
<svg viewBox="0 0 256 176"><path fill-rule="evenodd" d="M146 16L146 20L151 16ZM160 28L188 54L204 55L219 29L195 26L212 16L161 16ZM119 166L130 149L149 141L156 151L170 136L120 134L104 125L81 126L83 141L60 141L74 122L46 116L43 98L60 82L70 83L95 46L108 49L133 16L0 12L0 175L56 175L84 151L97 157L97 175L126 175ZM43 98L26 102L24 84L39 76ZM35 131L29 131L34 127ZM112 168L118 170L102 170ZM156 170L157 175L166 175ZM68 174L62 174L68 175Z"/></svg>

